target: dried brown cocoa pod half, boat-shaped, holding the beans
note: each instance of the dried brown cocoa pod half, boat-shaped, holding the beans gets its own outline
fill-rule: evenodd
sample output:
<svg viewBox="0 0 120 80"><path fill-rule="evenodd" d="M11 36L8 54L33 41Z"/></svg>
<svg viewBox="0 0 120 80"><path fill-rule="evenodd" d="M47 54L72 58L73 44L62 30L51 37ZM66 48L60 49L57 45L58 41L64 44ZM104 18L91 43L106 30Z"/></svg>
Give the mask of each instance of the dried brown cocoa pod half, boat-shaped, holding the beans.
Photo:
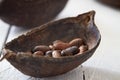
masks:
<svg viewBox="0 0 120 80"><path fill-rule="evenodd" d="M3 49L3 58L22 73L33 77L56 76L73 70L90 58L100 43L101 35L94 24L94 15L95 11L90 11L36 27L8 42ZM30 54L37 45L50 45L55 40L69 42L74 38L84 39L89 49L83 54L60 58Z"/></svg>

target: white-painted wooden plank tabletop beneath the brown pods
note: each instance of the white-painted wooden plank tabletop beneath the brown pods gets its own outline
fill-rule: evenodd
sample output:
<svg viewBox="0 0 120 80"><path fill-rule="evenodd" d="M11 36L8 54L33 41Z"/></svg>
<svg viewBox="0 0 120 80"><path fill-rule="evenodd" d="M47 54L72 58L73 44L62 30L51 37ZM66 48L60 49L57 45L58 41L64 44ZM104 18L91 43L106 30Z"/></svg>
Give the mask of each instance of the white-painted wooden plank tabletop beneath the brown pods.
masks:
<svg viewBox="0 0 120 80"><path fill-rule="evenodd" d="M6 60L0 62L0 80L120 80L120 9L102 5L97 0L69 0L57 19L96 11L95 23L102 41L94 55L78 68L56 77L34 78L26 76ZM8 34L9 25L0 20L0 49ZM13 26L8 41L26 32Z"/></svg>

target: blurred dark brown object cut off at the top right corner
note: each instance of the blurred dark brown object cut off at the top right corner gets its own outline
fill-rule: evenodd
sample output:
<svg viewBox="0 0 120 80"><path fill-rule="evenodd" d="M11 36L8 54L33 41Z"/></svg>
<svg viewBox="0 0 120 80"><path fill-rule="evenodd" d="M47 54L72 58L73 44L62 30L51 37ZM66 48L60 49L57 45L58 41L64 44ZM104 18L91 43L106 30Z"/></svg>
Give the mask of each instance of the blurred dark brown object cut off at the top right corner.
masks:
<svg viewBox="0 0 120 80"><path fill-rule="evenodd" d="M109 6L120 8L120 0L99 0L99 1Z"/></svg>

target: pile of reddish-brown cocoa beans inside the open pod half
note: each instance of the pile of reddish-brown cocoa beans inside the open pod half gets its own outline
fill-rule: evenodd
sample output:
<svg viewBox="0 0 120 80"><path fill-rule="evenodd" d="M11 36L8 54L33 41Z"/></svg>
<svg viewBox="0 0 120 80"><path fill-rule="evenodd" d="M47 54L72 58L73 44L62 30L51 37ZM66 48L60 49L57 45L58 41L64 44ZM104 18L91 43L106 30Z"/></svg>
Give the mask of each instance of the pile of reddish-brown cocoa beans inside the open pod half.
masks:
<svg viewBox="0 0 120 80"><path fill-rule="evenodd" d="M52 45L38 45L32 50L33 56L44 56L60 58L64 56L73 56L84 53L88 50L88 45L81 38L75 38L70 42L61 40L53 41Z"/></svg>

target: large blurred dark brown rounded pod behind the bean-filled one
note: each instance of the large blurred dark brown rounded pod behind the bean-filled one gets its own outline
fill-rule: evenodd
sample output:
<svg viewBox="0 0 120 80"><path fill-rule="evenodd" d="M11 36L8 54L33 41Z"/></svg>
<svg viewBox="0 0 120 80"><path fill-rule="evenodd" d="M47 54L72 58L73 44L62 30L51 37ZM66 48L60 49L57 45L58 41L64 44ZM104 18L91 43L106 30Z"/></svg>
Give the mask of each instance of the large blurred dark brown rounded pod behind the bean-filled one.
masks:
<svg viewBox="0 0 120 80"><path fill-rule="evenodd" d="M37 27L55 18L68 0L1 0L0 18L10 25Z"/></svg>

